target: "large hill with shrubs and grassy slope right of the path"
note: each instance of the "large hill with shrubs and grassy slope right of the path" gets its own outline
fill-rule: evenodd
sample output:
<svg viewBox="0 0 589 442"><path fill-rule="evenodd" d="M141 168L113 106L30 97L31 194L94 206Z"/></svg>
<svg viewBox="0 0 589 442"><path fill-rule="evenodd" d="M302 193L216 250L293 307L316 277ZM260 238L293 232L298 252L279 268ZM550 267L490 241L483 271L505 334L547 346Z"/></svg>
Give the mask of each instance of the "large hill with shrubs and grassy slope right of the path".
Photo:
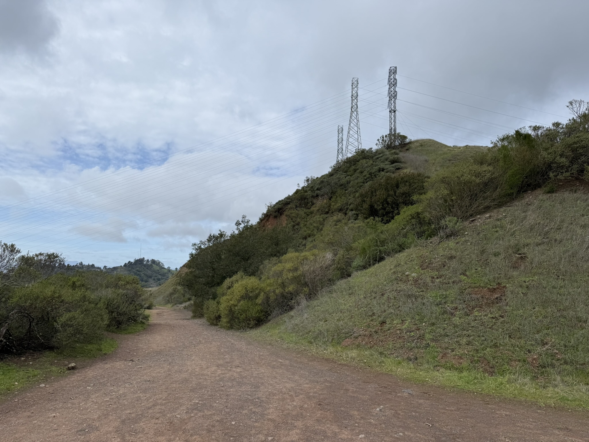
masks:
<svg viewBox="0 0 589 442"><path fill-rule="evenodd" d="M491 147L417 140L307 177L259 222L193 245L178 278L193 315L422 381L589 407L584 109Z"/></svg>

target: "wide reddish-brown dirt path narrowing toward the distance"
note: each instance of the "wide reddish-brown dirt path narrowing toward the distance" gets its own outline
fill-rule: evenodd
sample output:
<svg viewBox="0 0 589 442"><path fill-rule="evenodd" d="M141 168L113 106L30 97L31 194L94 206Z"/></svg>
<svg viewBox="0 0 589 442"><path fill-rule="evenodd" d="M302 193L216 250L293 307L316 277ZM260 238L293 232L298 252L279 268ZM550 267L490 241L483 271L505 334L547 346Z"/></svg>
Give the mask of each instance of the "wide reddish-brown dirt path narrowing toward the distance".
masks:
<svg viewBox="0 0 589 442"><path fill-rule="evenodd" d="M589 414L409 384L188 316L154 310L113 354L0 404L0 441L589 442Z"/></svg>

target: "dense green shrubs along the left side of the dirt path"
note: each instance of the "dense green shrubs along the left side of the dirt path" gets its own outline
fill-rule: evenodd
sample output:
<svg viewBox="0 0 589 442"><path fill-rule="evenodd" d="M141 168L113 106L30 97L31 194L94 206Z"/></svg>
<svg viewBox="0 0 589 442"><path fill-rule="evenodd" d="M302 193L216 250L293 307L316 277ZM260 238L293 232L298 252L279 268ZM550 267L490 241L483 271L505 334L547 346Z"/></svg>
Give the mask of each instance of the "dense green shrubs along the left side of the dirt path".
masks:
<svg viewBox="0 0 589 442"><path fill-rule="evenodd" d="M18 255L18 249L13 251ZM71 347L147 320L144 291L135 276L65 275L59 272L62 259L53 255L21 255L0 273L0 353Z"/></svg>

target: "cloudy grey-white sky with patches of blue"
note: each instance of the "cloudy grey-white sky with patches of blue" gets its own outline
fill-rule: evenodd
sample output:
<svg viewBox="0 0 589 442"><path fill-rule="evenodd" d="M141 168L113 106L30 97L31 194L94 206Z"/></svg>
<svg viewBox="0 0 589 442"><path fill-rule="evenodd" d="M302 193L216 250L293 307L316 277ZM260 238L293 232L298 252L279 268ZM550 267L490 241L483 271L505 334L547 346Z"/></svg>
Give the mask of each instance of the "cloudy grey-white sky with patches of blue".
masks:
<svg viewBox="0 0 589 442"><path fill-rule="evenodd" d="M171 267L363 147L447 144L589 99L589 2L0 0L0 240Z"/></svg>

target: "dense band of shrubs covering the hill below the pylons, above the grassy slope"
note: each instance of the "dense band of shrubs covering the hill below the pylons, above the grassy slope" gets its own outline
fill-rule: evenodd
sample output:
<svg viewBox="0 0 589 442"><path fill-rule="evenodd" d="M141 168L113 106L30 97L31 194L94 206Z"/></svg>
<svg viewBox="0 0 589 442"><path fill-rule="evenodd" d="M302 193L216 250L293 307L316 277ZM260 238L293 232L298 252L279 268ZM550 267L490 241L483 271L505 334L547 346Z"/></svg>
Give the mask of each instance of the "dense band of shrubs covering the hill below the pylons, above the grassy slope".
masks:
<svg viewBox="0 0 589 442"><path fill-rule="evenodd" d="M464 220L522 192L585 176L589 116L570 105L581 110L566 124L517 130L488 149L419 140L393 150L383 136L379 149L307 177L256 225L243 217L236 232L193 245L182 283L194 316L227 328L259 324L418 242L458 236ZM412 171L399 173L405 167Z"/></svg>

